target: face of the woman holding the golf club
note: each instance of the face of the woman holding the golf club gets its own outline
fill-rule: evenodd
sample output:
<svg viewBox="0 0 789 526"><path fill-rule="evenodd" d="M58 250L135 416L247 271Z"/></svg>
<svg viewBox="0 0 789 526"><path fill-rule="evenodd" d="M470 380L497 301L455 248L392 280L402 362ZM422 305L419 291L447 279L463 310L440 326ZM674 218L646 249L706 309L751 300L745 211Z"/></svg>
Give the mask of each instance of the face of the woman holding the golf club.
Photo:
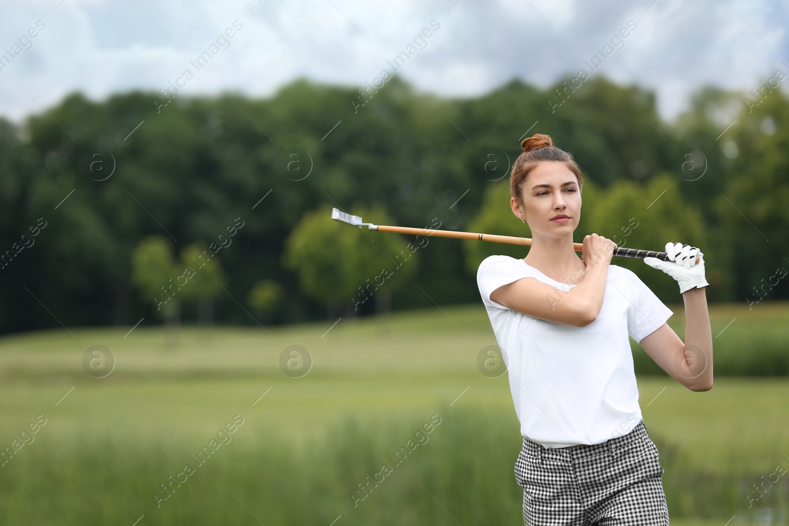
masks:
<svg viewBox="0 0 789 526"><path fill-rule="evenodd" d="M581 219L581 191L566 164L540 162L522 182L522 196L522 203L512 198L510 207L525 218L533 235L572 239Z"/></svg>

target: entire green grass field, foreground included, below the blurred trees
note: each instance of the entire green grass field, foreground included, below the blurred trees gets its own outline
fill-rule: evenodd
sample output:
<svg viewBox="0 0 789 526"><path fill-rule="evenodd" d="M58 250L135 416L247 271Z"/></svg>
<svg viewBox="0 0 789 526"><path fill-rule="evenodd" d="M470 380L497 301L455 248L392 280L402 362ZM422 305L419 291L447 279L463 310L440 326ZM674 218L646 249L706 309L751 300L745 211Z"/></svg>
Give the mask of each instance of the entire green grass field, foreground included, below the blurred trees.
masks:
<svg viewBox="0 0 789 526"><path fill-rule="evenodd" d="M711 309L713 337L735 319L715 339L716 372L719 356L757 355L765 334L789 341L787 304L758 307ZM675 311L670 324L682 336ZM507 375L488 379L476 367L480 349L495 343L484 308L331 323L184 328L177 347L144 326L126 337L131 327L0 339L0 447L47 417L0 468L0 524L61 524L52 512L65 524L133 524L143 514L140 525L258 524L239 500L263 524L330 524L338 515L342 524L456 524L433 498L464 526L522 524ZM91 345L117 359L107 378L82 369ZM312 355L303 378L280 370L289 345ZM672 524L723 526L735 514L730 526L748 524L740 520L789 502L789 475L752 509L744 496L776 464L789 466L789 379L718 376L712 390L694 393L661 374L639 376L638 386ZM232 442L157 509L159 485L237 414L245 423ZM430 442L353 508L357 484L434 414L443 422Z"/></svg>

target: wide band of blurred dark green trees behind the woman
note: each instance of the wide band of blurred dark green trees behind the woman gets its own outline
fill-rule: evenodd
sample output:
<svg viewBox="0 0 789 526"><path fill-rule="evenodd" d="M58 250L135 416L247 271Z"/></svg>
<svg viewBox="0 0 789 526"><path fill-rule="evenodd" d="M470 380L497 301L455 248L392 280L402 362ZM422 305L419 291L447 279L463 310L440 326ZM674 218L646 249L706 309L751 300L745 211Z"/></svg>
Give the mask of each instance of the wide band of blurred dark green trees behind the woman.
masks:
<svg viewBox="0 0 789 526"><path fill-rule="evenodd" d="M222 244L224 270L204 273L205 286L194 287L203 296L181 296L202 304L203 318L212 301L225 323L253 323L241 304L265 323L320 319L330 304L366 315L386 310L387 291L393 310L477 302L474 262L511 247L431 238L413 254L418 259L390 267L376 301L355 303L383 270L379 256L398 253L394 246L377 252L394 235L337 224L346 229L341 238L326 232L335 244L310 246L295 241L310 237L297 234L297 225L324 205L325 218L316 215L316 222L331 222L333 206L361 205L375 207L357 213L365 221L386 214L380 222L529 236L509 210L506 188L527 130L551 135L584 172L576 241L592 229L612 236L635 218L626 242L632 247L697 243L707 256L711 300L745 300L753 285L789 265L789 100L781 91L749 108L742 94L705 87L669 125L653 92L603 76L552 112L560 86L563 80L543 91L512 80L475 99L428 100L395 77L354 113L357 90L296 80L268 99L180 98L159 112L152 93L103 102L76 93L23 126L0 119L0 252L12 250L39 218L47 222L35 244L0 269L0 331L57 325L47 309L66 326L152 316L157 292L146 287L155 280L148 276L151 283L140 285L145 297L138 296L138 279L147 278L133 262L145 256L152 264L163 252L151 244L147 255L137 254L141 240L159 236L172 243L170 254L185 254L189 245L221 242L236 221L244 226ZM323 232L317 223L311 228ZM350 233L362 237L349 244ZM417 240L398 240L398 250L408 241ZM320 273L300 267L296 256L287 266L290 245L323 254L316 268L333 282L317 285ZM337 256L345 250L349 257ZM306 277L310 272L316 276ZM164 281L182 274L173 270ZM656 293L679 301L659 278L649 283ZM784 281L772 298L789 296ZM163 285L155 284L159 294Z"/></svg>

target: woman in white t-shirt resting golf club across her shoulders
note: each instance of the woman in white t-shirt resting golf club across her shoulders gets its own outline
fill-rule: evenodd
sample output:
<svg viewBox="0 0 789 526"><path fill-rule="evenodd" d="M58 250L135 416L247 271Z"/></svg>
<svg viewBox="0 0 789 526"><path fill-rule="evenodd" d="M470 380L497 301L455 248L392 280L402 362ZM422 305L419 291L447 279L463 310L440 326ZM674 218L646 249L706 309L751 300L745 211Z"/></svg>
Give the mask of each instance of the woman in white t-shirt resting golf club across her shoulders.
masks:
<svg viewBox="0 0 789 526"><path fill-rule="evenodd" d="M712 388L712 332L703 254L667 243L671 261L645 258L679 282L685 343L672 312L592 234L573 248L581 170L546 135L522 142L510 207L529 223L524 259L490 256L477 285L510 376L523 447L515 476L531 524L668 523L655 444L641 421L628 336L690 390ZM700 261L696 263L696 256Z"/></svg>

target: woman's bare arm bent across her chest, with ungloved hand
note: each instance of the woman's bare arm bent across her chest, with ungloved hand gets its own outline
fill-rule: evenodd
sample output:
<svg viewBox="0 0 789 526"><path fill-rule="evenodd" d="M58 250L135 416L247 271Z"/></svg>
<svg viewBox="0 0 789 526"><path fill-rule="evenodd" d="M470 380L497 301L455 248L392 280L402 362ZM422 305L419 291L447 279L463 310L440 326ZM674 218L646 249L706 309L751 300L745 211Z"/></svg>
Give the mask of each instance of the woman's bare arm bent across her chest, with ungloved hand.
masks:
<svg viewBox="0 0 789 526"><path fill-rule="evenodd" d="M597 319L603 308L608 266L615 246L613 241L597 234L586 236L583 248L586 269L578 277L578 285L568 292L536 278L522 278L495 289L491 300L548 322L587 326Z"/></svg>

